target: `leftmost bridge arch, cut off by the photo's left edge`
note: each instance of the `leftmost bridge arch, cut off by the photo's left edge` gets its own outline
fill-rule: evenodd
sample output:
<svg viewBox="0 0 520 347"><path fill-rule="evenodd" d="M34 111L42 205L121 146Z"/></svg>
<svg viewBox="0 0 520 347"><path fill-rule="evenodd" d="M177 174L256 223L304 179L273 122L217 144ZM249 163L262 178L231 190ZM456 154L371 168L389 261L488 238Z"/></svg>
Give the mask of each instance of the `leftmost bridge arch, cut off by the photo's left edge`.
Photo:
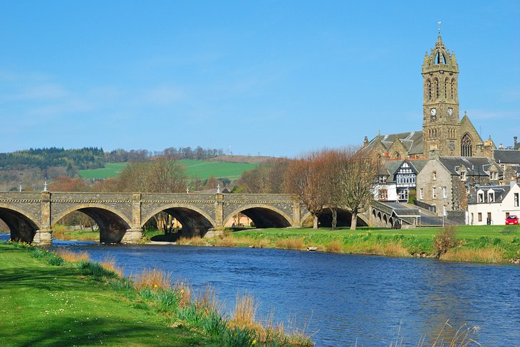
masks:
<svg viewBox="0 0 520 347"><path fill-rule="evenodd" d="M37 230L41 229L41 223L21 208L7 203L0 203L0 219L4 220L11 232L11 240L33 242Z"/></svg>

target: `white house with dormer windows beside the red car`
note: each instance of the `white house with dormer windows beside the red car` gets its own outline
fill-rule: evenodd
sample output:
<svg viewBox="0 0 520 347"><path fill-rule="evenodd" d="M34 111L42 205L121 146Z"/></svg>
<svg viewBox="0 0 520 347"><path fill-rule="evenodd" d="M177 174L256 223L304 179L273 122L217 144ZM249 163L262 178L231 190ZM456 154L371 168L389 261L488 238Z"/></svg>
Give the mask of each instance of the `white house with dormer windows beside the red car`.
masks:
<svg viewBox="0 0 520 347"><path fill-rule="evenodd" d="M511 181L509 186L482 186L468 201L468 224L501 225L509 215L520 217L520 184Z"/></svg>

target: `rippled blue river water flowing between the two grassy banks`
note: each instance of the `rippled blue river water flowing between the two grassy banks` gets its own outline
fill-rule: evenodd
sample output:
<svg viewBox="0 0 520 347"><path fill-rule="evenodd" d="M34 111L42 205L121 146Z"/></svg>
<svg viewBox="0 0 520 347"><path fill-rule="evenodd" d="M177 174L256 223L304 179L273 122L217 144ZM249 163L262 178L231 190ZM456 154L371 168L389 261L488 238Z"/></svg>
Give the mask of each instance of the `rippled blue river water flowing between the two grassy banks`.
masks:
<svg viewBox="0 0 520 347"><path fill-rule="evenodd" d="M211 284L233 307L237 293L259 300L259 316L295 321L316 346L417 346L449 319L479 326L482 346L520 346L520 267L431 259L334 255L271 249L177 245L98 245L56 241L54 248L114 257L125 275L157 267L195 289Z"/></svg>

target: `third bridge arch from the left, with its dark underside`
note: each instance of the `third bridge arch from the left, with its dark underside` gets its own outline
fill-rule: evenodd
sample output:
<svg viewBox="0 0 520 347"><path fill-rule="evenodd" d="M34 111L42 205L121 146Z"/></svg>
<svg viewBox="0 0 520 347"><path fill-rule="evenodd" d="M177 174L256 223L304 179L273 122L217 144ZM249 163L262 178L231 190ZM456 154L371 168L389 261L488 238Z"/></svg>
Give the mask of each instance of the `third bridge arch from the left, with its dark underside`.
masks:
<svg viewBox="0 0 520 347"><path fill-rule="evenodd" d="M206 212L194 205L187 203L171 203L162 205L152 210L147 215L141 216L141 228L145 223L150 220L154 215L160 212L168 213L172 217L179 220L182 224L182 236L204 236L207 230L215 228L217 223L215 220Z"/></svg>

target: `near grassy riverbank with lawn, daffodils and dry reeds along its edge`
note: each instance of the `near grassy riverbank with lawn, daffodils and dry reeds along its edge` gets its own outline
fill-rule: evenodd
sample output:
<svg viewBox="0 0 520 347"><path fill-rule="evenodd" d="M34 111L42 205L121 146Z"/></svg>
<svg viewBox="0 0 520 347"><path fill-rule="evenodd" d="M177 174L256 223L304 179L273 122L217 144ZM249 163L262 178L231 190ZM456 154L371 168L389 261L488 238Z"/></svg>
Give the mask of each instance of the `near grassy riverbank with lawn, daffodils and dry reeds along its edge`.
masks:
<svg viewBox="0 0 520 347"><path fill-rule="evenodd" d="M85 253L0 244L1 346L311 346L301 333L258 324L250 297L228 318L211 289L172 287L155 269L135 281L118 272Z"/></svg>

